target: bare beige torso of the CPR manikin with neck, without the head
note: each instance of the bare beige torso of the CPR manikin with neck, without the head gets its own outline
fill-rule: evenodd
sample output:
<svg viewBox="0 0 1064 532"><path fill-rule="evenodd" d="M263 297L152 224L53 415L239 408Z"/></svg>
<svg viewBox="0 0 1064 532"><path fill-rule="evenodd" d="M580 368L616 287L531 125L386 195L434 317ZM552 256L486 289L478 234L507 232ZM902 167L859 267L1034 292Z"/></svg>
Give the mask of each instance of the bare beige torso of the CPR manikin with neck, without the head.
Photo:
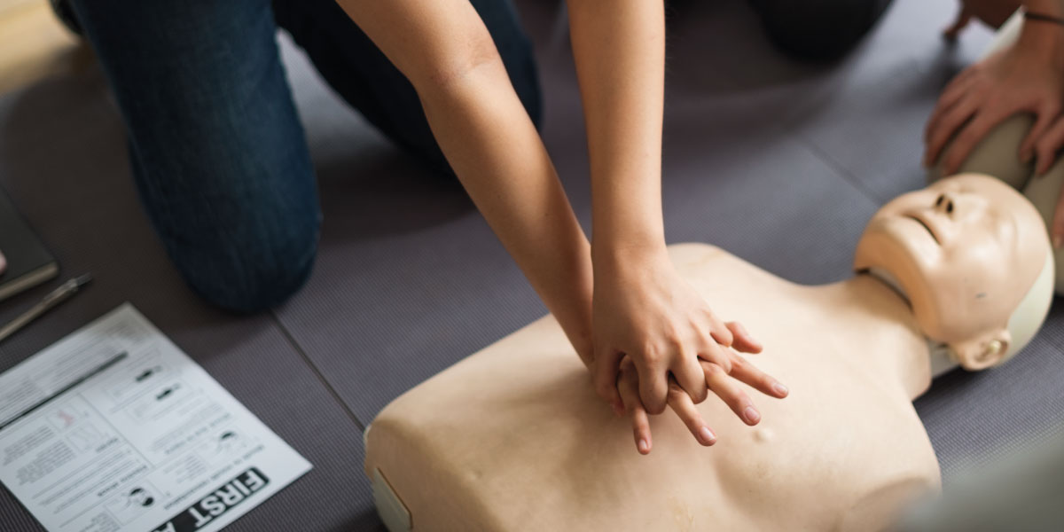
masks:
<svg viewBox="0 0 1064 532"><path fill-rule="evenodd" d="M674 262L714 311L765 346L748 356L791 388L749 390L744 425L711 395L700 446L670 412L639 455L628 419L588 384L550 316L388 405L367 435L414 530L878 530L940 486L912 400L930 384L904 300L858 276L800 286L705 245Z"/></svg>

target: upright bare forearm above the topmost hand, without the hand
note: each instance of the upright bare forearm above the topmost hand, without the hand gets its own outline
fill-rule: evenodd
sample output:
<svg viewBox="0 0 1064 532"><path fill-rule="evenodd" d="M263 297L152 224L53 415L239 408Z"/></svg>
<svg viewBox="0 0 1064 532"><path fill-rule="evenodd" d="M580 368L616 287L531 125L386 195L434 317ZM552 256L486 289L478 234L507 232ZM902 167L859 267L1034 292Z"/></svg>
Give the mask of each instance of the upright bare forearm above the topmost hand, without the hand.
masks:
<svg viewBox="0 0 1064 532"><path fill-rule="evenodd" d="M587 126L595 256L663 249L663 2L570 0L568 6Z"/></svg>

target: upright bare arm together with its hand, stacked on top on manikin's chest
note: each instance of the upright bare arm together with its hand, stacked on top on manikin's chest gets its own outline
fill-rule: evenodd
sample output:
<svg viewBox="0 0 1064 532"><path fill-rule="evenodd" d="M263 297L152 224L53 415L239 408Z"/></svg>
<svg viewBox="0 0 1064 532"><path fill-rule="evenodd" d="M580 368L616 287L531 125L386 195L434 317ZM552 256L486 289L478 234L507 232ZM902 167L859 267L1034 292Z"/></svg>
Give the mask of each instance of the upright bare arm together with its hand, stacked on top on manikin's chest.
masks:
<svg viewBox="0 0 1064 532"><path fill-rule="evenodd" d="M708 395L699 358L730 371L732 333L665 249L664 2L569 0L568 9L591 159L595 386L620 410L617 371L628 355L651 414L665 409L670 373L698 403Z"/></svg>

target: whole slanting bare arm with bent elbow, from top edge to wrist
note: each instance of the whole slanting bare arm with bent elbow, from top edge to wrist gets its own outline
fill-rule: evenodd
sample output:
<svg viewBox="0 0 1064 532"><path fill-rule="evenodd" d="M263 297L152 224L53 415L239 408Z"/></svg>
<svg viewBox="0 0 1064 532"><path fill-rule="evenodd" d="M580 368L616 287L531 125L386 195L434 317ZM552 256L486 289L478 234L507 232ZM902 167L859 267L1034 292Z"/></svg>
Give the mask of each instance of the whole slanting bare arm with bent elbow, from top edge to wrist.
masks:
<svg viewBox="0 0 1064 532"><path fill-rule="evenodd" d="M591 248L547 150L468 0L339 0L411 81L477 207L585 364Z"/></svg>

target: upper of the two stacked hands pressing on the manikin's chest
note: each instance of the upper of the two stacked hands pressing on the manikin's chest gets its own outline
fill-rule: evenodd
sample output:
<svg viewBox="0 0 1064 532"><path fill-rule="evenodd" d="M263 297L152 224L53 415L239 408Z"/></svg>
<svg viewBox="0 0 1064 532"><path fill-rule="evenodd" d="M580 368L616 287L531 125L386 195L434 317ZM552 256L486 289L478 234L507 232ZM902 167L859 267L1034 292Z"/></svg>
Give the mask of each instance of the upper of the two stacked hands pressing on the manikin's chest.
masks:
<svg viewBox="0 0 1064 532"><path fill-rule="evenodd" d="M595 389L615 411L624 410L616 384L625 355L638 372L639 398L651 414L665 410L670 376L695 404L705 400L700 360L731 371L732 331L680 277L664 247L596 257L592 312ZM752 338L739 347L761 349Z"/></svg>

